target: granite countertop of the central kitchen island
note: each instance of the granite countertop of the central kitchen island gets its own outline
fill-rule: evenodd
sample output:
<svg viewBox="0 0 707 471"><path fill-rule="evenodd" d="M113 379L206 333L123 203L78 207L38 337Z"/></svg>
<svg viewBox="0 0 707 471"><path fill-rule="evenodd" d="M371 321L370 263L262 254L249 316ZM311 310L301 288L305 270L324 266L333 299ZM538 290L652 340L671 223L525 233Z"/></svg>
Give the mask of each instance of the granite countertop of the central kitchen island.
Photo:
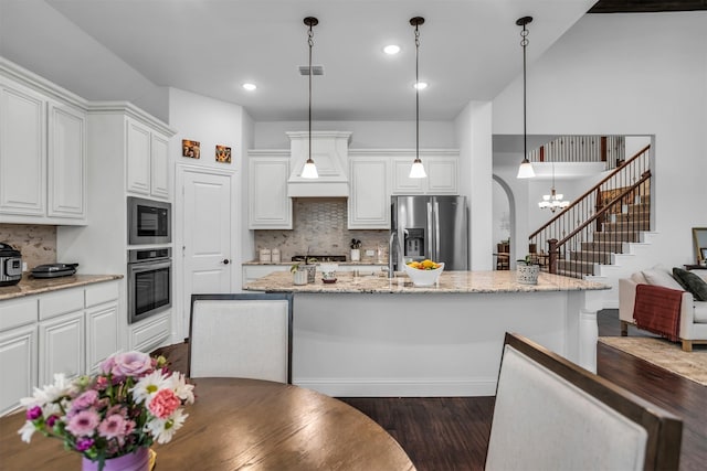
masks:
<svg viewBox="0 0 707 471"><path fill-rule="evenodd" d="M439 283L430 287L415 287L408 276L389 279L380 276L355 277L350 272L337 272L335 283L324 283L317 274L310 285L295 286L289 272L277 271L247 283L251 291L279 292L360 292L360 293L467 293L467 292L535 292L535 291L583 291L610 289L595 281L562 277L541 272L537 285L516 282L513 270L498 271L444 271Z"/></svg>

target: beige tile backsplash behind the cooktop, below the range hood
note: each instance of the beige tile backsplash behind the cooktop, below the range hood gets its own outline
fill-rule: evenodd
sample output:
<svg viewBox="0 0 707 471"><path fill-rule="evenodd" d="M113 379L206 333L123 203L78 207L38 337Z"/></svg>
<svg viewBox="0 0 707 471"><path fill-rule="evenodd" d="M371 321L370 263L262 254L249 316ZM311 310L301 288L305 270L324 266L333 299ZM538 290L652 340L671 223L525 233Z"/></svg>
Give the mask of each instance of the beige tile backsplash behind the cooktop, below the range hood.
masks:
<svg viewBox="0 0 707 471"><path fill-rule="evenodd" d="M298 197L293 200L292 231L255 231L255 254L261 248L279 248L282 261L295 255L346 255L350 260L352 238L361 240L361 261L377 261L376 250L384 247L388 259L388 231L349 231L344 197ZM366 255L373 250L372 256Z"/></svg>

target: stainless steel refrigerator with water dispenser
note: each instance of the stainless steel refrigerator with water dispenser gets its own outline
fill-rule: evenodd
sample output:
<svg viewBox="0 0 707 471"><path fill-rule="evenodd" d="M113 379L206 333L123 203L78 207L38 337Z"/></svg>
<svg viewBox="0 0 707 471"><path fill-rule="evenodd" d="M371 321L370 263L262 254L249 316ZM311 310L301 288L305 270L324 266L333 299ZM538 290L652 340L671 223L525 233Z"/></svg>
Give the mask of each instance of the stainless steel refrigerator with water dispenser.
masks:
<svg viewBox="0 0 707 471"><path fill-rule="evenodd" d="M410 260L444 261L444 270L468 270L466 196L391 196L390 268Z"/></svg>

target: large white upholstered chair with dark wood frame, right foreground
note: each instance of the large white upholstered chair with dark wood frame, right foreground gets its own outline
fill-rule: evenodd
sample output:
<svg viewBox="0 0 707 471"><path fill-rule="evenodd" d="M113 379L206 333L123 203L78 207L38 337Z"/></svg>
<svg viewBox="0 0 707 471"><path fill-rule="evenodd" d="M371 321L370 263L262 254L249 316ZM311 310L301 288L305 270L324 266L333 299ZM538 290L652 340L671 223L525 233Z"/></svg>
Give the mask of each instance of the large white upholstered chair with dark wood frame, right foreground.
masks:
<svg viewBox="0 0 707 471"><path fill-rule="evenodd" d="M516 334L506 334L487 470L676 470L683 422Z"/></svg>

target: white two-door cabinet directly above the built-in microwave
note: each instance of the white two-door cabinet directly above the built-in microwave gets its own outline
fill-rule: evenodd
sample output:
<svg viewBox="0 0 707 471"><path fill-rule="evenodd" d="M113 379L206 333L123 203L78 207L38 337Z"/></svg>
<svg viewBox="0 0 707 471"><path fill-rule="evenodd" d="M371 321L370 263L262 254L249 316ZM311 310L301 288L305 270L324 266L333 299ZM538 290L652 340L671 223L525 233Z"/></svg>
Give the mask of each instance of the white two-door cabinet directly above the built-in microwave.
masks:
<svg viewBox="0 0 707 471"><path fill-rule="evenodd" d="M126 118L126 191L168 199L168 139L147 125Z"/></svg>

